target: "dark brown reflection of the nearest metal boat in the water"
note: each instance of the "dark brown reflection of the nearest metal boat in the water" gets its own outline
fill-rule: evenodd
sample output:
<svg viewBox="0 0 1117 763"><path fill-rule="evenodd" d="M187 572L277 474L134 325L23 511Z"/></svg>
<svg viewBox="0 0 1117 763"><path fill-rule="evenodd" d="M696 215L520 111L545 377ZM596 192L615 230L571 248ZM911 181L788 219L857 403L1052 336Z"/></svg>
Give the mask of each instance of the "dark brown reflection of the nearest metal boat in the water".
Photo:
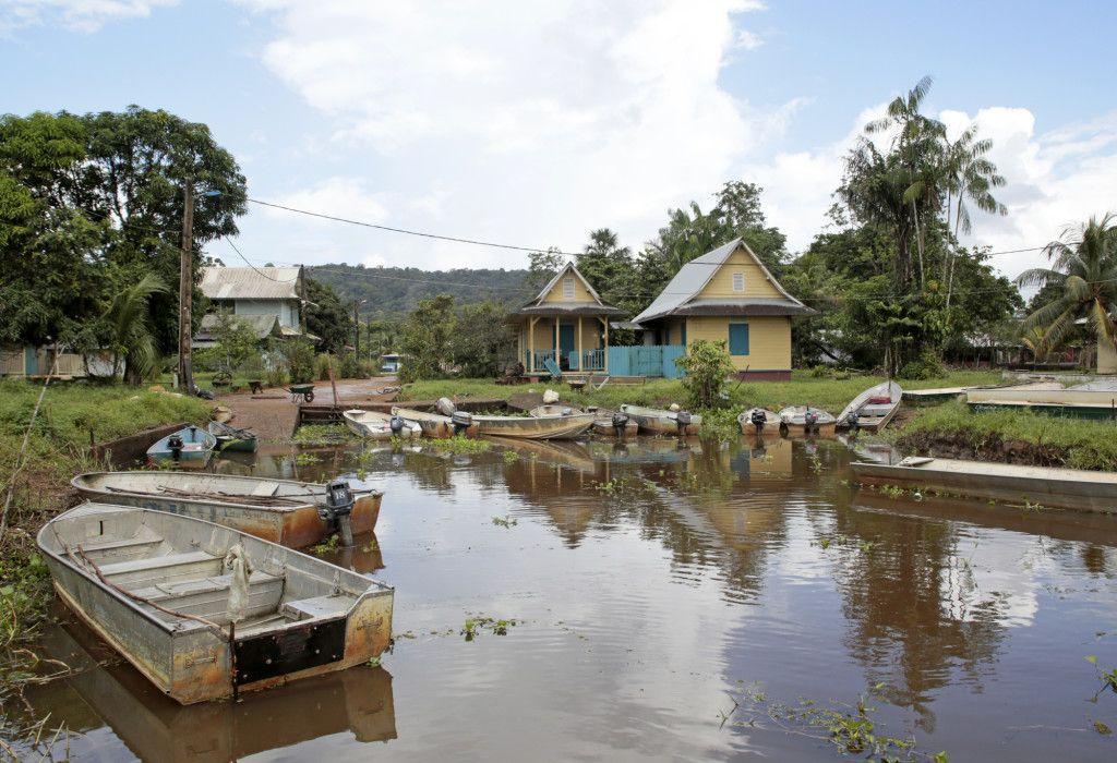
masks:
<svg viewBox="0 0 1117 763"><path fill-rule="evenodd" d="M144 761L232 761L333 734L352 742L395 738L392 676L383 667L357 666L294 682L244 702L183 706L163 696L122 663L85 626L52 627L41 643L47 655L75 672L69 678L27 689L52 726L73 734L75 757L98 757L99 730L109 728ZM95 708L95 709L94 709Z"/></svg>

